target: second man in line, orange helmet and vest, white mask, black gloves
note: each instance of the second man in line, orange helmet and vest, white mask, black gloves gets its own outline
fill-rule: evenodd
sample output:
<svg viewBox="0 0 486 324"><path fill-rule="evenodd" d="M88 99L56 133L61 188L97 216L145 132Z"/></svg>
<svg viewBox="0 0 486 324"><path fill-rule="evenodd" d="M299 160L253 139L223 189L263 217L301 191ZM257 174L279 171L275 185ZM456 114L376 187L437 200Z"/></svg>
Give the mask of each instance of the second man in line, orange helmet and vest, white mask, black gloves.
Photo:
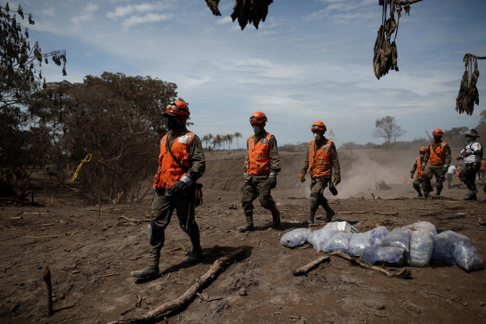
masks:
<svg viewBox="0 0 486 324"><path fill-rule="evenodd" d="M247 140L245 157L244 182L241 188L241 206L245 212L245 225L236 229L245 232L254 230L253 200L257 197L263 208L272 213L272 227L280 225L280 212L275 207L270 195L277 185L277 174L280 172L280 158L275 136L265 131L267 116L256 111L250 116L250 125L255 134Z"/></svg>

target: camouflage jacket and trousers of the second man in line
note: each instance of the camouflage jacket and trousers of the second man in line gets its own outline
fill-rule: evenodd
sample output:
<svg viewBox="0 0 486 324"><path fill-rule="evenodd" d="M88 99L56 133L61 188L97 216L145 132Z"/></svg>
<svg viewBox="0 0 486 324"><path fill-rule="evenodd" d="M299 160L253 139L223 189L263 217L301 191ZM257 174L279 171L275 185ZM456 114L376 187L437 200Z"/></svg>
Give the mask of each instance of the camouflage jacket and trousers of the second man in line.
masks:
<svg viewBox="0 0 486 324"><path fill-rule="evenodd" d="M241 206L245 211L245 215L253 215L253 200L257 197L260 200L260 204L263 208L268 209L275 212L275 202L270 195L270 188L268 184L268 177L270 173L278 174L280 172L280 157L278 156L277 150L277 140L275 136L270 136L270 140L268 141L268 151L270 155L270 173L262 174L262 175L253 175L247 173L247 167L249 165L249 155L248 155L248 143L250 140L256 138L256 143L261 138L264 138L267 135L267 132L263 132L263 135L260 134L259 137L253 135L251 138L247 140L247 154L245 157L245 176L243 186L241 187ZM256 144L255 143L255 144Z"/></svg>

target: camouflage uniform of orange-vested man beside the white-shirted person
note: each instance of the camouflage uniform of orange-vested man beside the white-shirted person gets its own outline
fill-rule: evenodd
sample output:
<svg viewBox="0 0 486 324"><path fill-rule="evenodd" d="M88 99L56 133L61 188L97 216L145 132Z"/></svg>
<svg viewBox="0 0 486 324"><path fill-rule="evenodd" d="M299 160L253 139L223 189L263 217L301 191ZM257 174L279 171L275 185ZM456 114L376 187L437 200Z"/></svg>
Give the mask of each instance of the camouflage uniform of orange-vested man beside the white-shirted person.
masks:
<svg viewBox="0 0 486 324"><path fill-rule="evenodd" d="M442 141L441 141L442 142ZM430 163L427 163L430 157L430 144L432 144L432 149L436 148L439 144L435 144L434 142L429 143L427 146L427 151L425 152L424 160L422 161L422 166L426 164L425 169L422 171L422 189L424 190L425 193L431 192L432 185L430 184L430 180L433 178L435 175L435 181L437 182L437 194L440 194L442 191L443 187L443 182L446 180L446 173L447 169L443 170L444 165L449 167L451 164L451 159L452 159L452 154L451 154L451 147L449 144L446 143L444 146L444 161L442 164L439 165L431 165Z"/></svg>

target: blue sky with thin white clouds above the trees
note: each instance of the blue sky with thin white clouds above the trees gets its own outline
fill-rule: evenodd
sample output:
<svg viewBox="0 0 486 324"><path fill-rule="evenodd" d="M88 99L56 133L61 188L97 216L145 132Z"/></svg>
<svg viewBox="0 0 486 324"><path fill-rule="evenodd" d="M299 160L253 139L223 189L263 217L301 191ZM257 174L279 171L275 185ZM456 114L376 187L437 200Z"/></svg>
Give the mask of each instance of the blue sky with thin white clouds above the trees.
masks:
<svg viewBox="0 0 486 324"><path fill-rule="evenodd" d="M35 20L30 41L43 52L67 51L69 82L103 71L174 82L200 137L240 132L246 138L249 116L261 110L279 144L311 140L316 120L338 145L381 143L372 133L386 115L408 131L400 140L411 140L435 128L474 127L486 109L486 60L480 60L480 104L472 116L455 111L464 54L486 56L484 0L413 4L399 22L400 71L380 80L372 64L378 0L275 0L258 30L243 31L229 17L233 0L221 0L221 17L204 0L20 4ZM43 75L48 82L63 79L52 63L43 65Z"/></svg>

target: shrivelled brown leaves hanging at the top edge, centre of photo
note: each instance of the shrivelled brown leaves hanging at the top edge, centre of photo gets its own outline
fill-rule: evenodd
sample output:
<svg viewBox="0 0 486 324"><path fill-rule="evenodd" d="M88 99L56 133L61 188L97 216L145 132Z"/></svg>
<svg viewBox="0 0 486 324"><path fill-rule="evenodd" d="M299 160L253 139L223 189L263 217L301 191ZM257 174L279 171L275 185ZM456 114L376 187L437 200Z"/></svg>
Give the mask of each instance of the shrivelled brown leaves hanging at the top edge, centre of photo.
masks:
<svg viewBox="0 0 486 324"><path fill-rule="evenodd" d="M215 16L221 16L218 5L220 0L206 0L209 9ZM238 19L241 30L245 29L248 23L253 23L258 29L260 21L265 21L268 14L268 6L273 0L235 0L231 19L233 22Z"/></svg>

